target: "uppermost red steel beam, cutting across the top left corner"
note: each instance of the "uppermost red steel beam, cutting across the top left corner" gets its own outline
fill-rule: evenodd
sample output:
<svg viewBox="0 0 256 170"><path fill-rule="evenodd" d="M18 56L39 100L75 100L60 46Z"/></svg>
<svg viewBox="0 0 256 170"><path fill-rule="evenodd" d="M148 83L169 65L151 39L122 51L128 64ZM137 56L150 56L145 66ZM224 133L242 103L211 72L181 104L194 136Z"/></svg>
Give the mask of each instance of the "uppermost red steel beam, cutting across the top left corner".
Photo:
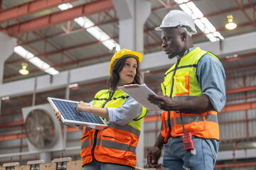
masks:
<svg viewBox="0 0 256 170"><path fill-rule="evenodd" d="M29 1L28 3L4 9L0 12L0 23L15 20L21 17L29 16L33 13L44 11L53 8L60 4L65 4L76 0L40 0Z"/></svg>

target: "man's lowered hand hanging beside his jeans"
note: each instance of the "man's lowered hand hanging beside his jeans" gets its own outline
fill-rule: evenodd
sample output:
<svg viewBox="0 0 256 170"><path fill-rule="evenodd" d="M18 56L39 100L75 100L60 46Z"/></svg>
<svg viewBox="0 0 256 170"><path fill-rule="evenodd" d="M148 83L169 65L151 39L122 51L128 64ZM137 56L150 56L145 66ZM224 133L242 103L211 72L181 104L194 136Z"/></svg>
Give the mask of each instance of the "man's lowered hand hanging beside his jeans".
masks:
<svg viewBox="0 0 256 170"><path fill-rule="evenodd" d="M147 162L149 166L151 166L152 168L161 166L161 164L158 163L158 160L160 157L161 157L161 149L159 149L159 147L154 146L147 156Z"/></svg>

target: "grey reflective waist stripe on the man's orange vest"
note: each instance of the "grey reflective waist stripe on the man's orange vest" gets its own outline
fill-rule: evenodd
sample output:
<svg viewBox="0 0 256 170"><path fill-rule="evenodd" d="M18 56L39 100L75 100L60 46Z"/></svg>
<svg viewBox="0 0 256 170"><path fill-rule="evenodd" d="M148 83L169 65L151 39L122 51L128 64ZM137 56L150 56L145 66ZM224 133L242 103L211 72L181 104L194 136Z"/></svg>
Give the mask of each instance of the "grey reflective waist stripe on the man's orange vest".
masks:
<svg viewBox="0 0 256 170"><path fill-rule="evenodd" d="M218 123L217 115L207 114L205 115L206 121ZM193 122L201 122L203 121L203 117L201 115L188 115L182 117L183 124L193 123ZM181 124L181 118L176 117L176 125ZM168 126L168 120L166 120L166 126ZM171 126L174 126L174 118L171 118Z"/></svg>

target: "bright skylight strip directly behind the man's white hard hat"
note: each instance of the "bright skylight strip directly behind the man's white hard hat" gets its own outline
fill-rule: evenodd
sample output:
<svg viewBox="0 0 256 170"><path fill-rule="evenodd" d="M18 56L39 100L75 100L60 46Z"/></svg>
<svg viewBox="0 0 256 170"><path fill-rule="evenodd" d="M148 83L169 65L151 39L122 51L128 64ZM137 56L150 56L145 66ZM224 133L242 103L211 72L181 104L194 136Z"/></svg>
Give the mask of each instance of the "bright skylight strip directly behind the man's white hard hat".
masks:
<svg viewBox="0 0 256 170"><path fill-rule="evenodd" d="M192 16L193 20L195 21L196 26L206 34L206 37L211 41L215 42L217 40L223 40L223 36L216 31L216 28L213 26L210 21L208 21L208 18L203 16L203 13L200 11L200 9L191 1L188 2L188 0L174 0L183 11L188 13ZM186 3L188 2L188 3ZM186 4L183 4L186 3Z"/></svg>

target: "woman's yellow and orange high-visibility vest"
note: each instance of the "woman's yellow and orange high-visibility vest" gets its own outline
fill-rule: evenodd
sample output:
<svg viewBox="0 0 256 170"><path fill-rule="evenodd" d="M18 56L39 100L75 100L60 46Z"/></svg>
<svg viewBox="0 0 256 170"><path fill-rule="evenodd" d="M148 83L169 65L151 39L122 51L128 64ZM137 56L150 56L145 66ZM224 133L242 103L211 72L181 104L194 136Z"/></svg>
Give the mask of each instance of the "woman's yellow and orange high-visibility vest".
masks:
<svg viewBox="0 0 256 170"><path fill-rule="evenodd" d="M129 96L121 90L99 91L94 98L93 106L99 108L118 108ZM139 118L131 120L127 125L110 124L104 130L86 128L81 137L82 164L92 162L94 157L98 162L136 166L135 149L139 142L142 128L142 118L146 108L142 108Z"/></svg>

